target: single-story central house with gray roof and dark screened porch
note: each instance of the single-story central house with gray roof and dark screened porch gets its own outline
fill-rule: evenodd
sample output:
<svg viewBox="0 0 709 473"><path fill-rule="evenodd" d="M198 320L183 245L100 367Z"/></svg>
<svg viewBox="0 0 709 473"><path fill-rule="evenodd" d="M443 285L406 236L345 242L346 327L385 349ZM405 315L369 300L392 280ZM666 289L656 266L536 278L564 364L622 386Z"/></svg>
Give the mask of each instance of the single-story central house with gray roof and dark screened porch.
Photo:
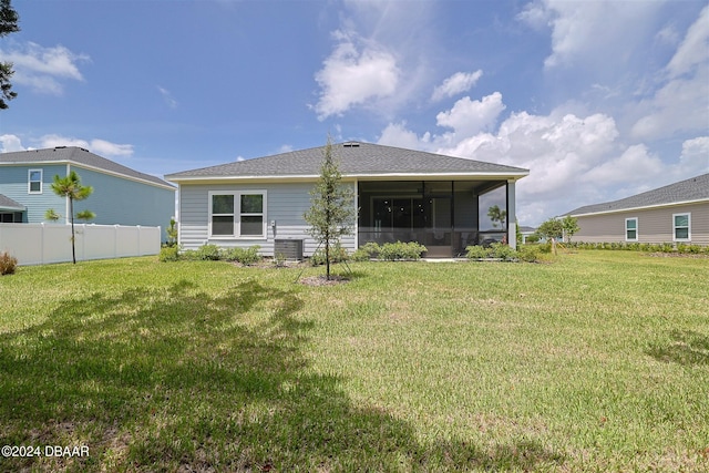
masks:
<svg viewBox="0 0 709 473"><path fill-rule="evenodd" d="M302 215L323 153L314 147L165 176L178 185L181 245L259 245L273 256L290 243L312 255L318 245ZM357 142L333 144L332 155L357 196L354 233L342 239L349 250L401 240L450 257L490 237L515 245L515 183L527 169ZM507 222L489 229L493 203Z"/></svg>

